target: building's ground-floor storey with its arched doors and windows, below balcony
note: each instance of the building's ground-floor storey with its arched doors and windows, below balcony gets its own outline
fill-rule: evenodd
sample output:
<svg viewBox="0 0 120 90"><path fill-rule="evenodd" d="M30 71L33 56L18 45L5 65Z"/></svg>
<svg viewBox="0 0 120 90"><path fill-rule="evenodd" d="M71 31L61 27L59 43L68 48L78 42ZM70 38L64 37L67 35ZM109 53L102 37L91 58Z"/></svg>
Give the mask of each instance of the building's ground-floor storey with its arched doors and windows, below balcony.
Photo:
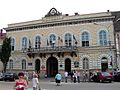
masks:
<svg viewBox="0 0 120 90"><path fill-rule="evenodd" d="M114 56L113 56L114 58ZM57 54L46 54L42 57L26 54L13 54L8 62L8 71L35 71L41 76L55 76L56 73L72 70L111 70L111 57L107 53L78 53L77 56L58 56Z"/></svg>

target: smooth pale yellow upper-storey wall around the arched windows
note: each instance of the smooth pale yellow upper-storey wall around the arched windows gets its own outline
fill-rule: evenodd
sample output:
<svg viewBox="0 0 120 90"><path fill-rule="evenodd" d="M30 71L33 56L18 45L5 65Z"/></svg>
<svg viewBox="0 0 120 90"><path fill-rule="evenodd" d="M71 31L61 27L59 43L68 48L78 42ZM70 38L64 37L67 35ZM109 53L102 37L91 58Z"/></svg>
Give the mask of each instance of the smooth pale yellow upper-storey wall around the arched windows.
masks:
<svg viewBox="0 0 120 90"><path fill-rule="evenodd" d="M28 29L28 30L22 30L22 31L12 31L8 32L8 36L12 36L16 40L16 49L21 49L21 38L27 37L31 40L32 45L34 45L34 38L36 35L40 35L41 37L41 47L46 46L47 39L50 34L55 34L56 38L60 36L63 40L63 46L64 46L64 35L65 33L71 33L74 35L78 41L78 46L81 46L80 42L80 36L83 31L87 31L90 34L90 46L96 46L98 43L98 31L100 30L106 30L108 33L110 33L110 40L112 43L114 43L114 34L113 34L113 26L112 22L103 22L103 23L97 23L98 25L95 25L94 23L89 24L77 24L77 25L69 25L69 26L56 26L56 27L47 27L47 28L39 28L39 29ZM110 26L110 27L109 27ZM109 28L108 28L109 27ZM58 40L58 39L57 39ZM109 40L109 35L108 35ZM58 42L56 42L58 45Z"/></svg>

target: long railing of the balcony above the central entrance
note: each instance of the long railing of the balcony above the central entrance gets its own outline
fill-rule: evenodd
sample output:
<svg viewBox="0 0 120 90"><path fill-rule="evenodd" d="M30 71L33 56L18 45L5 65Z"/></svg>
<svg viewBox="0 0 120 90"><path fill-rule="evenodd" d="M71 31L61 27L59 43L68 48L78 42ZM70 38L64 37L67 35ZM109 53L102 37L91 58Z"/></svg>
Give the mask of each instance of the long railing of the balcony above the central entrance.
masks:
<svg viewBox="0 0 120 90"><path fill-rule="evenodd" d="M40 48L26 48L23 52L26 53L55 53L55 52L75 52L76 46L59 46L59 47L40 47Z"/></svg>

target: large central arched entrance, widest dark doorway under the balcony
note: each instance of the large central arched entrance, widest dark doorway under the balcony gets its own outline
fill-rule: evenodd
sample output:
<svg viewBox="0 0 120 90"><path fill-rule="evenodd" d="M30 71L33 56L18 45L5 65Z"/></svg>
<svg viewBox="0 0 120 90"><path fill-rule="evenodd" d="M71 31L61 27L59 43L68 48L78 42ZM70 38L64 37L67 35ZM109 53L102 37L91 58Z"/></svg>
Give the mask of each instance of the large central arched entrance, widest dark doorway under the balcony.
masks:
<svg viewBox="0 0 120 90"><path fill-rule="evenodd" d="M47 60L46 73L48 77L54 77L58 73L58 61L55 57L50 57Z"/></svg>

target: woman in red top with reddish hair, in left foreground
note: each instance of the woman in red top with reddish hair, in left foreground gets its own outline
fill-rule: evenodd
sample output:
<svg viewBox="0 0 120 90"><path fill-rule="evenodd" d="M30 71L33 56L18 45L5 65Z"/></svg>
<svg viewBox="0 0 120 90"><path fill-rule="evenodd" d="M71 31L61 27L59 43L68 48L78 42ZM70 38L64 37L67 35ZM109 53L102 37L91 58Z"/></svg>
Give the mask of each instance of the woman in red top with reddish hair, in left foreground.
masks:
<svg viewBox="0 0 120 90"><path fill-rule="evenodd" d="M18 80L15 80L14 90L27 90L27 82L24 79L24 73L20 72L18 74Z"/></svg>

